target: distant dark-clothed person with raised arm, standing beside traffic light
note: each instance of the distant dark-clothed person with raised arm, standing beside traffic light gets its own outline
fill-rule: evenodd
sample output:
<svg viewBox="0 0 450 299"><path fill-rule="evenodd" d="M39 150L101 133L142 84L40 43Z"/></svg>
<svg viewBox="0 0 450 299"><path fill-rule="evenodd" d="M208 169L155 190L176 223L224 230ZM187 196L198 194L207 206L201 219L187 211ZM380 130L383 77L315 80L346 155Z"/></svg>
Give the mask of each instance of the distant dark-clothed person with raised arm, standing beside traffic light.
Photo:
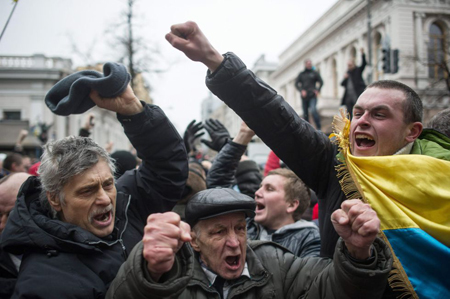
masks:
<svg viewBox="0 0 450 299"><path fill-rule="evenodd" d="M353 116L353 106L356 100L363 93L366 88L366 83L362 78L362 73L366 67L366 55L364 48L361 48L362 63L359 67L355 66L355 61L350 59L347 62L347 72L344 75L341 85L345 88L344 96L342 97L341 105L347 106L347 112L350 113L350 119Z"/></svg>

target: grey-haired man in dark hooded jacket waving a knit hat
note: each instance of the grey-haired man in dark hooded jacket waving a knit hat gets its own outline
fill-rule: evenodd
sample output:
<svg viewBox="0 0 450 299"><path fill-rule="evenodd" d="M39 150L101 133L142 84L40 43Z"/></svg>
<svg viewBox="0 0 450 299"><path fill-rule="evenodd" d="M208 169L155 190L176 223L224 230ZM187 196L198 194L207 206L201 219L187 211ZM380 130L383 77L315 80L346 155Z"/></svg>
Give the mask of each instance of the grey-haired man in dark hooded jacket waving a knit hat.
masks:
<svg viewBox="0 0 450 299"><path fill-rule="evenodd" d="M23 254L12 298L103 298L147 217L171 210L183 192L186 151L161 109L130 86L90 97L117 112L143 163L116 182L109 154L90 138L45 146L40 176L24 183L2 233L3 249Z"/></svg>

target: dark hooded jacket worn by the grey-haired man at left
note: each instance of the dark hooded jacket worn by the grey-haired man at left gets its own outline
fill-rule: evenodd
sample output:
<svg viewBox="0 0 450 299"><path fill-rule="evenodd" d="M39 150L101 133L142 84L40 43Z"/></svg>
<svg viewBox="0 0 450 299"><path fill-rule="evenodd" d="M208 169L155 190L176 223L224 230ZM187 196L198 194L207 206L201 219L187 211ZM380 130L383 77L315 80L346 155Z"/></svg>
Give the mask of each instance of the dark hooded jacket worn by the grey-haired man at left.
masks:
<svg viewBox="0 0 450 299"><path fill-rule="evenodd" d="M30 177L2 233L4 250L23 254L12 298L103 298L120 265L142 240L151 213L169 211L187 178L183 140L153 105L121 116L125 133L143 160L116 183L116 222L105 238L54 220L39 202L40 183Z"/></svg>

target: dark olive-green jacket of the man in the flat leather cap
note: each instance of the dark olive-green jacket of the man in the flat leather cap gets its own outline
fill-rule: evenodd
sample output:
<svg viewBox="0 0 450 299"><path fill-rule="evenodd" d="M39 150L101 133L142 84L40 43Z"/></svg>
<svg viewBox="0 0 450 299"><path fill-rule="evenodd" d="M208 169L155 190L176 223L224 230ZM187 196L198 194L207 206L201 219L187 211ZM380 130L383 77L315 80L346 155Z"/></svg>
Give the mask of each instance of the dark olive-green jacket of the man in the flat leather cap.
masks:
<svg viewBox="0 0 450 299"><path fill-rule="evenodd" d="M334 260L302 259L275 243L249 241L250 278L236 279L228 298L381 298L392 256L380 239L374 245L375 259L363 265L349 260L342 239L336 245ZM141 242L133 249L106 298L219 298L189 245L177 253L172 270L160 283L150 278L142 248Z"/></svg>

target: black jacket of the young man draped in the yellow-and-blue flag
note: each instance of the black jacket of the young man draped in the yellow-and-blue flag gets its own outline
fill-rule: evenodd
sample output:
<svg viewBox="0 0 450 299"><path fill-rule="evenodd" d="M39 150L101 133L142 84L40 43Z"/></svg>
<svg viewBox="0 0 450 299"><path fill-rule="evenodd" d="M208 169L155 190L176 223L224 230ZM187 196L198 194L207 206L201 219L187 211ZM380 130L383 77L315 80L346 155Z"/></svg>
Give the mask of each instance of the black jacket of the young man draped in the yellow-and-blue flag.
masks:
<svg viewBox="0 0 450 299"><path fill-rule="evenodd" d="M331 223L331 214L346 199L336 177L335 166L339 163L336 145L303 120L233 53L225 54L223 63L212 75L208 72L206 84L316 192L320 198L320 253L333 257L339 235Z"/></svg>

